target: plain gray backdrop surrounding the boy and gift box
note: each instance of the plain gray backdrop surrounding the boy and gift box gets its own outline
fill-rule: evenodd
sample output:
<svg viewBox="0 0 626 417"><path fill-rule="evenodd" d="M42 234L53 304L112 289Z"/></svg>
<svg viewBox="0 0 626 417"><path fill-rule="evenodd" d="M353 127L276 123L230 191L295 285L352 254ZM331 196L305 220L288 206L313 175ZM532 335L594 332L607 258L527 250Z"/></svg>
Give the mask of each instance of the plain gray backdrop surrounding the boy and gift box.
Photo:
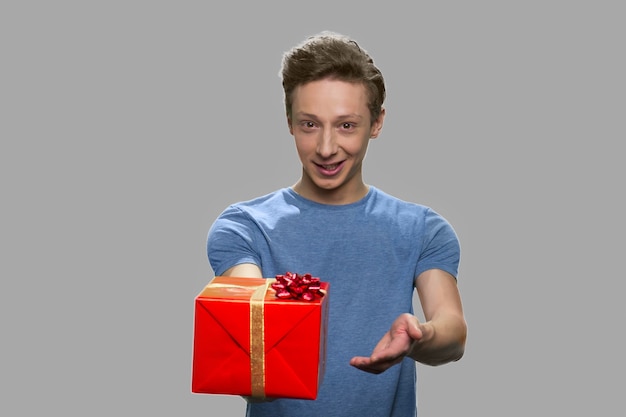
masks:
<svg viewBox="0 0 626 417"><path fill-rule="evenodd" d="M623 412L621 3L250 3L0 6L0 414L243 415L190 392L206 233L297 180L277 73L324 29L387 80L366 181L462 243L420 415Z"/></svg>

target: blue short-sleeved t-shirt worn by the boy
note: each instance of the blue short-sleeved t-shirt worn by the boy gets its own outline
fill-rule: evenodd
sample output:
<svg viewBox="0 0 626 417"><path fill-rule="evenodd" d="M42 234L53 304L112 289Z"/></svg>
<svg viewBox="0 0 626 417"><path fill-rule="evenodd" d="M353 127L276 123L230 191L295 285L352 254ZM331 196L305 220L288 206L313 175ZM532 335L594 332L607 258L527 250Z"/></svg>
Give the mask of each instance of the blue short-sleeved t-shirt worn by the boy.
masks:
<svg viewBox="0 0 626 417"><path fill-rule="evenodd" d="M248 404L248 416L416 415L412 359L379 375L349 362L369 356L392 322L413 312L420 273L437 268L457 276L459 242L443 217L373 186L346 205L316 203L284 188L224 210L209 230L207 253L218 276L253 263L264 277L308 272L330 283L327 362L318 398Z"/></svg>

